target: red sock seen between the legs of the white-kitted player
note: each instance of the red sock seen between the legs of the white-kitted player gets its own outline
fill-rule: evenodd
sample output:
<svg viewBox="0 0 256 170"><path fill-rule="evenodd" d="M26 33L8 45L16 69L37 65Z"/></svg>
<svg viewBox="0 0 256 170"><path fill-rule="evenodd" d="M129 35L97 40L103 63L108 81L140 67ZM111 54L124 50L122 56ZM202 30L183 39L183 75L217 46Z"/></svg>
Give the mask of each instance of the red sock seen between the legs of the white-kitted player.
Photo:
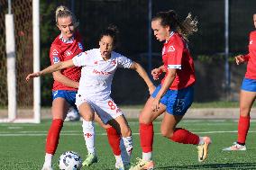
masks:
<svg viewBox="0 0 256 170"><path fill-rule="evenodd" d="M117 133L116 130L114 130L113 127L110 127L106 129L107 139L110 147L113 150L113 153L115 156L121 155L121 149L120 149L120 139L121 136Z"/></svg>

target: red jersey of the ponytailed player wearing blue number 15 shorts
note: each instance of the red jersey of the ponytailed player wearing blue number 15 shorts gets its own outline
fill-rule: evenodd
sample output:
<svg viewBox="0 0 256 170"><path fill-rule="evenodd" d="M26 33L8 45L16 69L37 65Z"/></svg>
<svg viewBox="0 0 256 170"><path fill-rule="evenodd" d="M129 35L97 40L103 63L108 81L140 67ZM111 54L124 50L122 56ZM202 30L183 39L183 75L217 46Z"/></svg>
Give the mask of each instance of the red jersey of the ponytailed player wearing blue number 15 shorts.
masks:
<svg viewBox="0 0 256 170"><path fill-rule="evenodd" d="M177 69L175 79L169 89L178 90L195 84L193 58L191 58L186 41L177 32L172 31L169 40L164 43L162 61L166 70L169 68ZM166 76L162 79L161 85Z"/></svg>

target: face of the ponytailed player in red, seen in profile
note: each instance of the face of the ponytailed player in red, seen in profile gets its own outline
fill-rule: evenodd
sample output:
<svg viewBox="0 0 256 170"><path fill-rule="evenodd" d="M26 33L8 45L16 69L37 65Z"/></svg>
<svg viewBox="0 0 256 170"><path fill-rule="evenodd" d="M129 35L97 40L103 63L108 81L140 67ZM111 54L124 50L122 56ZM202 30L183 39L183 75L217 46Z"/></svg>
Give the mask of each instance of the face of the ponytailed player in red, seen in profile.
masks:
<svg viewBox="0 0 256 170"><path fill-rule="evenodd" d="M160 19L151 22L151 28L157 40L169 40L169 26L162 26Z"/></svg>

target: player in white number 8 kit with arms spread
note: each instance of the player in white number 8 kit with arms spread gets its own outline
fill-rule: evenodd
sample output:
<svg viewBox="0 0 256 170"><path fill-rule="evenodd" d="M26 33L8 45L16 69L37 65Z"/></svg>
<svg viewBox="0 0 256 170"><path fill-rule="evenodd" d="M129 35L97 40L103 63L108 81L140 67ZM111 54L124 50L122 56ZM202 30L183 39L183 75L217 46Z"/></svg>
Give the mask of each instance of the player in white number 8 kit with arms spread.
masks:
<svg viewBox="0 0 256 170"><path fill-rule="evenodd" d="M85 120L83 127L86 127L87 131L84 131L84 133L88 136L86 139L87 149L92 159L96 157L93 122L95 112L105 124L112 125L121 134L123 146L129 157L133 150L132 132L123 116L123 112L110 97L112 80L116 69L123 67L135 70L148 85L150 94L155 89L151 79L140 64L113 51L116 45L117 33L117 28L110 26L100 35L99 49L87 50L78 54L75 58L56 63L26 77L29 80L33 77L42 76L68 67L82 67L76 105ZM123 166L124 169L129 169L130 165L128 163Z"/></svg>

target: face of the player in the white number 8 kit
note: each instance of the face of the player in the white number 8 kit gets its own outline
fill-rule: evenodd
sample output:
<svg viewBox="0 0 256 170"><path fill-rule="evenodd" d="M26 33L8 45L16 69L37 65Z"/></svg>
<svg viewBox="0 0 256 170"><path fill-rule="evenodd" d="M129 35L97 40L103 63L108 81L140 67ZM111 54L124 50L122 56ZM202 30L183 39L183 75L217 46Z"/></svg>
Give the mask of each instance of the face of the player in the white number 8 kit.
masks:
<svg viewBox="0 0 256 170"><path fill-rule="evenodd" d="M102 58L110 58L111 52L114 49L113 38L110 36L103 36L99 41L99 49Z"/></svg>

